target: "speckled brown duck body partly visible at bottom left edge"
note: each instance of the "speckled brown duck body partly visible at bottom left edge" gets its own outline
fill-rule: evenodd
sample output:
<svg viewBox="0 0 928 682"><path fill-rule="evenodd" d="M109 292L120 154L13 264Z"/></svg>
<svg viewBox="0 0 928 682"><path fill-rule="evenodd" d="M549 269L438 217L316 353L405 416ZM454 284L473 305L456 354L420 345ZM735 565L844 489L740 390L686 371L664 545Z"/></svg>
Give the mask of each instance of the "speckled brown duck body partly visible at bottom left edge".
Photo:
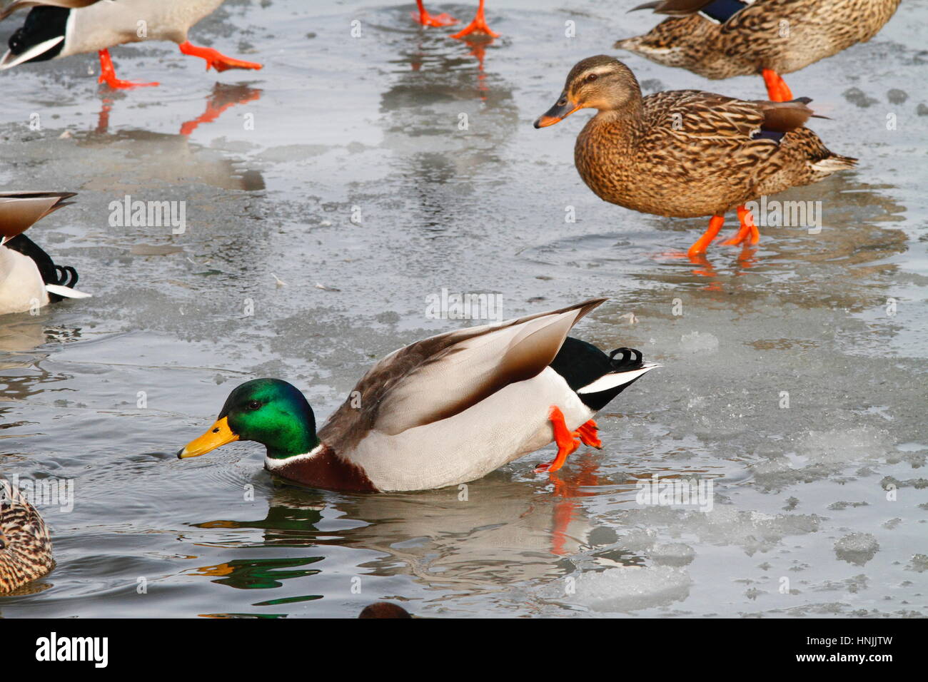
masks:
<svg viewBox="0 0 928 682"><path fill-rule="evenodd" d="M0 481L0 594L19 589L54 567L45 521L18 491Z"/></svg>

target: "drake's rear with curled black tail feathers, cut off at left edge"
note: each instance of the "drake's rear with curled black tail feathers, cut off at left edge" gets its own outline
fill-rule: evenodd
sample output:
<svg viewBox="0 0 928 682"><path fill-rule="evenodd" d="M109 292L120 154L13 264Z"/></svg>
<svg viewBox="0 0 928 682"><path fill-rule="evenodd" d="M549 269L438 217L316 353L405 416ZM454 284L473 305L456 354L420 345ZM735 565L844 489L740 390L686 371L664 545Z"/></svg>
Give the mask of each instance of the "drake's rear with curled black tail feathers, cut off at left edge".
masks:
<svg viewBox="0 0 928 682"><path fill-rule="evenodd" d="M73 192L0 192L0 315L24 313L64 298L84 299L75 290L77 271L56 265L22 233L48 213L68 206Z"/></svg>

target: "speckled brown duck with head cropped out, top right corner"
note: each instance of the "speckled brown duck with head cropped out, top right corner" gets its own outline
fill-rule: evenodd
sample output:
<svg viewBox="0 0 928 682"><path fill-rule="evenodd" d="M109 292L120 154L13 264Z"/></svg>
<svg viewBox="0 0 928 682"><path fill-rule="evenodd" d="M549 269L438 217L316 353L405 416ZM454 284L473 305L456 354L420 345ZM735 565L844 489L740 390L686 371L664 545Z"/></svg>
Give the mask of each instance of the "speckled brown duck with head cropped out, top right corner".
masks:
<svg viewBox="0 0 928 682"><path fill-rule="evenodd" d="M865 43L899 0L657 0L632 9L669 14L614 46L713 80L761 73L767 97L793 99L780 77Z"/></svg>

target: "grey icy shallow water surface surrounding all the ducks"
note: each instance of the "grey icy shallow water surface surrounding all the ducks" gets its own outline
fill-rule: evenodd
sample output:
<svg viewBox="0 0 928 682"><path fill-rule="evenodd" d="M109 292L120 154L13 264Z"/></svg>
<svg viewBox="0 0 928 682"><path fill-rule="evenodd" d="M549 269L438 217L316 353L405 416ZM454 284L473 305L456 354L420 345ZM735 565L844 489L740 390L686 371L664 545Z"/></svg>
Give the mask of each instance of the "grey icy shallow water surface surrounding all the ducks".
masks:
<svg viewBox="0 0 928 682"><path fill-rule="evenodd" d="M42 508L57 569L0 615L354 616L381 598L428 616L928 614L925 2L786 79L861 159L778 197L820 200L821 234L762 228L707 267L674 257L701 220L586 189L586 112L531 124L576 60L651 15L491 0L502 37L481 53L417 28L412 3L307 5L230 1L193 32L264 71L204 73L150 44L114 60L159 88L99 90L91 56L0 74L0 188L79 192L32 238L94 294L0 320L0 473L76 496ZM765 97L759 78L619 57L646 92ZM110 226L126 194L186 201L186 233ZM534 473L549 447L467 501L292 487L256 444L174 458L256 376L327 417L376 358L462 324L426 316L442 288L497 292L507 317L607 296L575 335L664 368L600 414L602 450L552 480ZM639 505L655 472L711 478L714 508Z"/></svg>

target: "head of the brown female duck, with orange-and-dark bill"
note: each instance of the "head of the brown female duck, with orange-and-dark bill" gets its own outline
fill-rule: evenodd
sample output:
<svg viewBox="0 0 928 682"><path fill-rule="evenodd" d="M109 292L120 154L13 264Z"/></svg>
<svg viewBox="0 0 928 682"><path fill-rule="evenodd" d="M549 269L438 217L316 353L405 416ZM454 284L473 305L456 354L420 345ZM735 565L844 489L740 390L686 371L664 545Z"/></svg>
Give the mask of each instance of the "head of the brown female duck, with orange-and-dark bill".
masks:
<svg viewBox="0 0 928 682"><path fill-rule="evenodd" d="M635 74L625 64L608 55L587 57L571 69L561 97L538 117L535 128L554 125L578 109L629 109L640 101L641 87Z"/></svg>

